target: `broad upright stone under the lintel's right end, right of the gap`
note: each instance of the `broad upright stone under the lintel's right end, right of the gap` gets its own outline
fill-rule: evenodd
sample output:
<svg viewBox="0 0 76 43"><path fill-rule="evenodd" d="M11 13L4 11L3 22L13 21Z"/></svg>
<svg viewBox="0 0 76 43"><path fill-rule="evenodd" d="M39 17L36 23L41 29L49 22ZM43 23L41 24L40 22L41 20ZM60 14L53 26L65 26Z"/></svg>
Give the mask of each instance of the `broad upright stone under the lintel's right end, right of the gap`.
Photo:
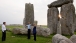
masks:
<svg viewBox="0 0 76 43"><path fill-rule="evenodd" d="M61 29L62 34L73 35L73 23L74 23L75 8L72 3L65 4L61 7Z"/></svg>

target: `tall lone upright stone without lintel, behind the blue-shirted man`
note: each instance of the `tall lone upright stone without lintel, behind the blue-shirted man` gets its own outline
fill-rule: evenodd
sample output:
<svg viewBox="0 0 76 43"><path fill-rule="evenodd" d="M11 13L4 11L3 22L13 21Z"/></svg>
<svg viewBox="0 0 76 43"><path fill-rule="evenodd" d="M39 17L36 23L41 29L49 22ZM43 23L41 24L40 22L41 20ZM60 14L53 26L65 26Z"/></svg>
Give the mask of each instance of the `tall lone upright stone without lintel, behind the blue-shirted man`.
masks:
<svg viewBox="0 0 76 43"><path fill-rule="evenodd" d="M34 23L34 7L33 4L31 3L26 3L25 4L25 17L23 20L24 27L30 22L32 25Z"/></svg>

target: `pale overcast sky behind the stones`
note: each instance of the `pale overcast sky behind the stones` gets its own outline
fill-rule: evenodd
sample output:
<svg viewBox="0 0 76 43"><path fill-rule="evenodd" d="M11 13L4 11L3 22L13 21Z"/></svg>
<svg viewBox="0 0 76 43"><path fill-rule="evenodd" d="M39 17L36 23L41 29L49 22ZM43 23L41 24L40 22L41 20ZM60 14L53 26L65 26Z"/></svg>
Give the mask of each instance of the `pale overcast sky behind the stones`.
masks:
<svg viewBox="0 0 76 43"><path fill-rule="evenodd" d="M34 5L34 17L38 25L47 25L47 5L56 0L0 0L0 24L23 24L25 3ZM74 0L76 8L76 0Z"/></svg>

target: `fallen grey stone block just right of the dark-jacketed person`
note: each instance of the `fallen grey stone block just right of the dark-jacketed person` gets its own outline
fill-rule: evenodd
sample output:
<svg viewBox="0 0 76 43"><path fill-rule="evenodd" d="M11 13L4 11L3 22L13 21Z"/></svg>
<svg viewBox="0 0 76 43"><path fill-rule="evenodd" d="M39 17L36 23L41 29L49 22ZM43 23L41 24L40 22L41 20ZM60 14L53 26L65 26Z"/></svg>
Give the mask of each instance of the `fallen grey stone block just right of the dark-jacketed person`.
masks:
<svg viewBox="0 0 76 43"><path fill-rule="evenodd" d="M33 29L31 30L33 31ZM43 28L43 27L36 27L37 35L48 37L50 35L50 29L49 28Z"/></svg>

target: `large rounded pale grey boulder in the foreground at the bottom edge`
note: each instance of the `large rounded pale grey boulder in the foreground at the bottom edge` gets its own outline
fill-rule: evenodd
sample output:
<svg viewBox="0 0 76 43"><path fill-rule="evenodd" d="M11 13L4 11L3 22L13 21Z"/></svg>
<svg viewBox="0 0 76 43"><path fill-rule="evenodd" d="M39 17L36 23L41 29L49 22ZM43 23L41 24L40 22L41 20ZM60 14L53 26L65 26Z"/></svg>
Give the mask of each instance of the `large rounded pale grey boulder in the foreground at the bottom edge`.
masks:
<svg viewBox="0 0 76 43"><path fill-rule="evenodd" d="M60 34L56 34L52 38L52 43L73 43L70 39L66 38L65 36L62 36Z"/></svg>

